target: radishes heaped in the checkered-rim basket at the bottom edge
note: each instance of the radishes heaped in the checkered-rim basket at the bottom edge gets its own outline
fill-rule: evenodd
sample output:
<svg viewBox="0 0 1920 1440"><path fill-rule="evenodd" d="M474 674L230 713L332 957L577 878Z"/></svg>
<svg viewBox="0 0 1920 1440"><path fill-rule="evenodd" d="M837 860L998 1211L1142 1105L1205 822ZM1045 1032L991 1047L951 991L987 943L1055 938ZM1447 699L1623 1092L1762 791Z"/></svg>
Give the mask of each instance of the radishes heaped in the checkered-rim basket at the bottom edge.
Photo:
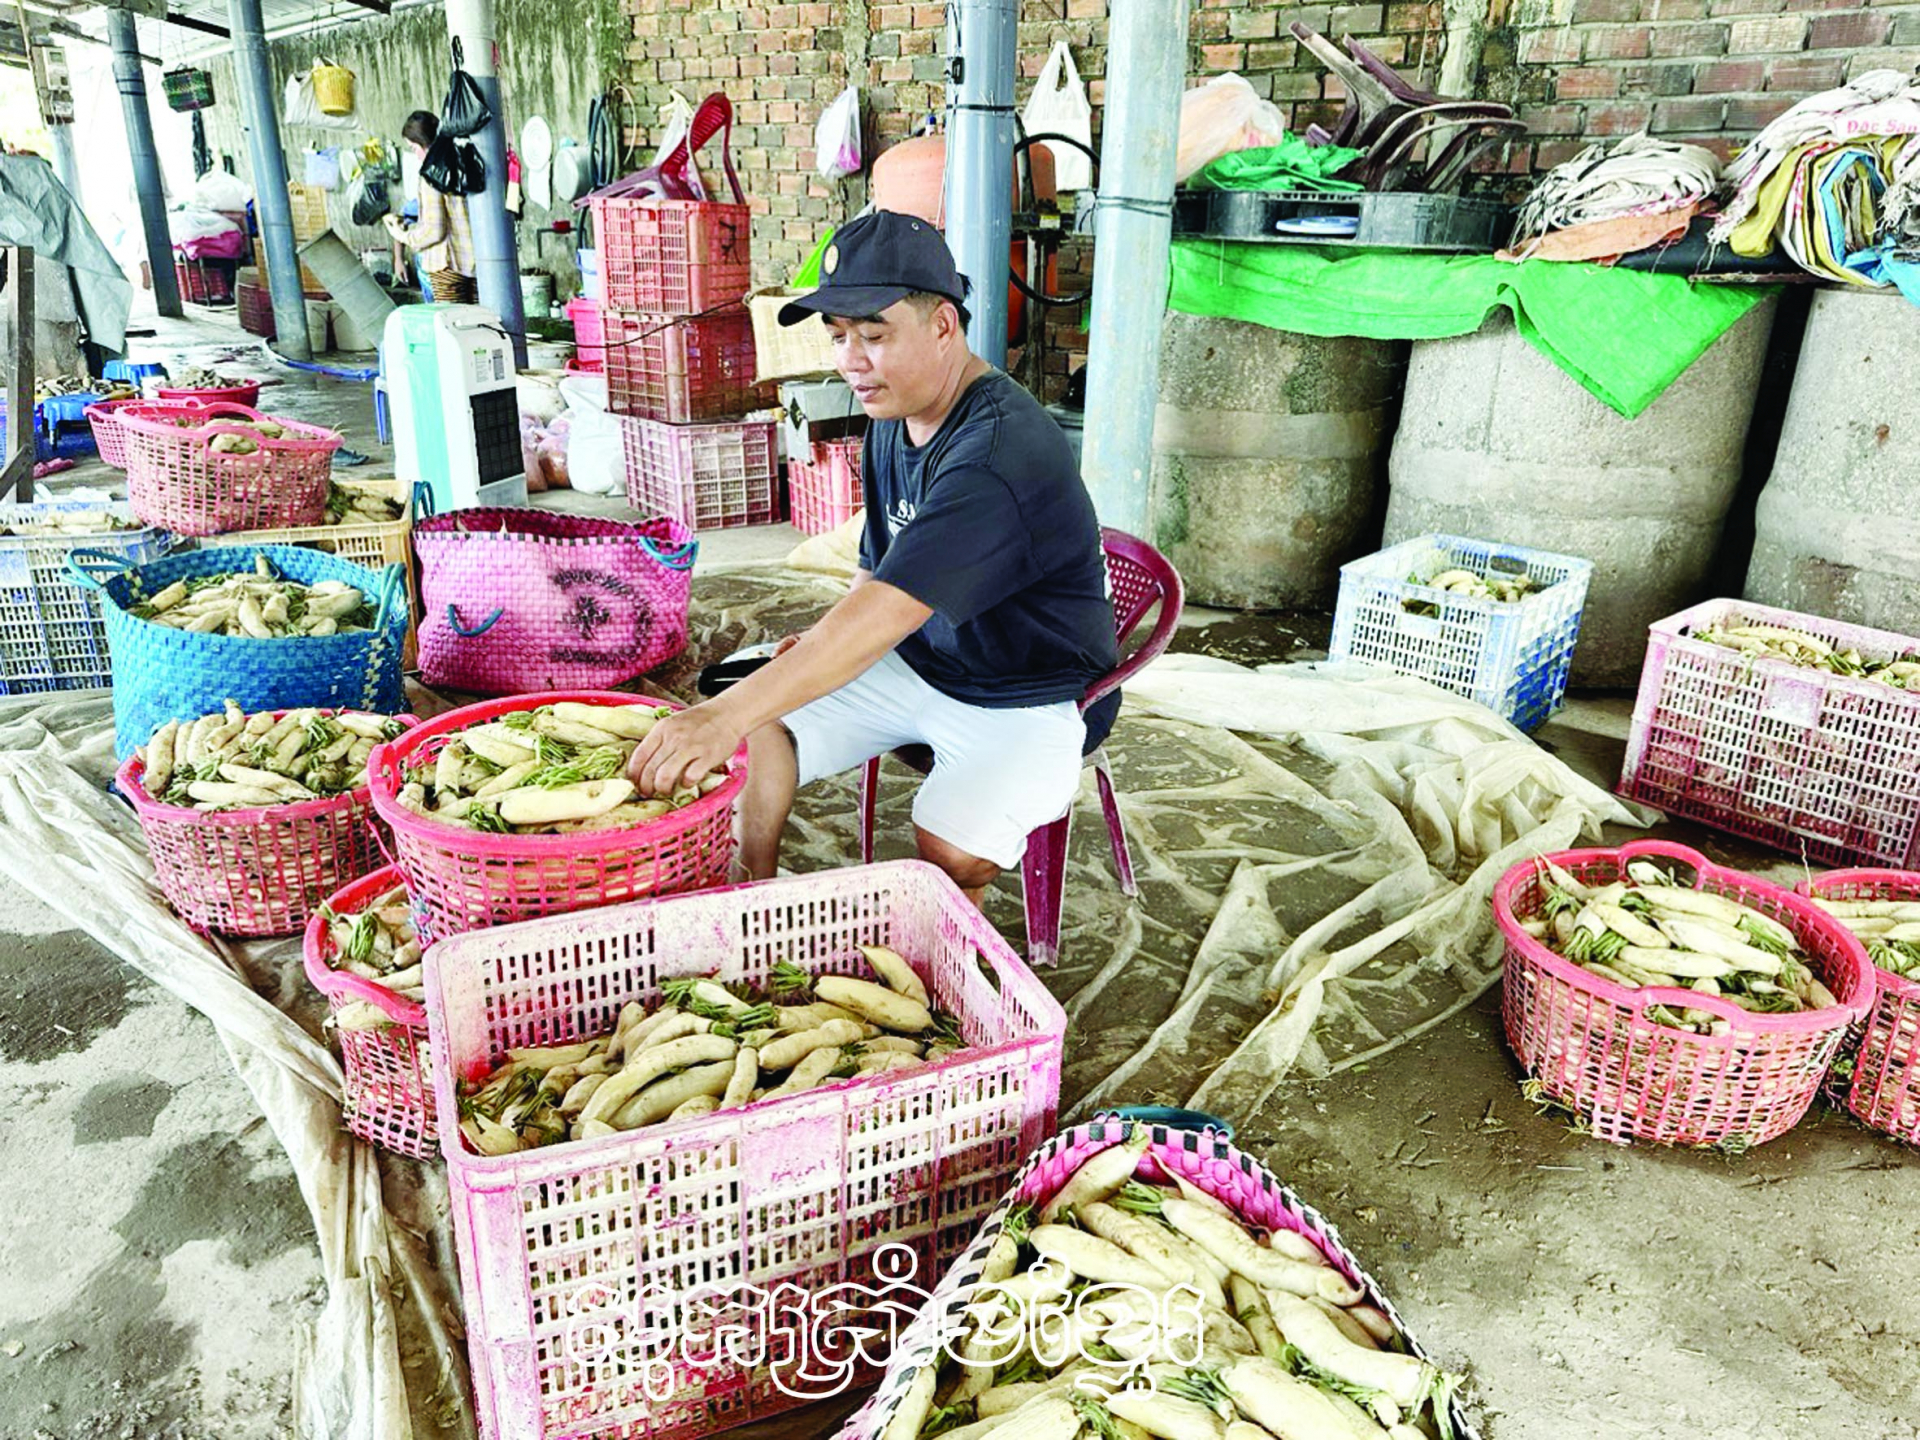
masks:
<svg viewBox="0 0 1920 1440"><path fill-rule="evenodd" d="M1098 1152L995 1238L943 1363L881 1440L1428 1440L1459 1377L1288 1229L1260 1233L1179 1175L1142 1183L1148 1133Z"/></svg>

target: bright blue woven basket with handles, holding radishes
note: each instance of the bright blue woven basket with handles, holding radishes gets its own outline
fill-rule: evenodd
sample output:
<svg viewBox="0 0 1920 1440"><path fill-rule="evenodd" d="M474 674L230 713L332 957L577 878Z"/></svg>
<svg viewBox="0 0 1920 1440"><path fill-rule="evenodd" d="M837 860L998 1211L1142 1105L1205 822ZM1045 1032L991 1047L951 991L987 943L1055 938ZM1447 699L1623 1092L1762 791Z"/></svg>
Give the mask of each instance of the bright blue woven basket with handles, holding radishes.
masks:
<svg viewBox="0 0 1920 1440"><path fill-rule="evenodd" d="M175 580L248 572L265 555L275 574L305 586L342 580L372 597L372 630L348 636L252 639L196 636L136 620L138 605ZM77 549L67 559L75 580L102 589L108 647L113 651L113 755L127 758L167 720L194 720L232 699L242 710L296 710L338 705L376 714L405 708L399 653L407 639L407 570L369 570L298 545L232 545L188 551L129 566L106 551Z"/></svg>

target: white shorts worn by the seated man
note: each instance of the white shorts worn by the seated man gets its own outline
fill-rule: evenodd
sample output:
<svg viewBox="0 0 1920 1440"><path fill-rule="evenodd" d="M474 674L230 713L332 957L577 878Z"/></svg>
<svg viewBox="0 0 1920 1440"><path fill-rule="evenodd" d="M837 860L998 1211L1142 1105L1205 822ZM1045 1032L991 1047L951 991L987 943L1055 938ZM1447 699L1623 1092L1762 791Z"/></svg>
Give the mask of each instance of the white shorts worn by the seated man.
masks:
<svg viewBox="0 0 1920 1440"><path fill-rule="evenodd" d="M933 774L914 797L914 824L1000 870L1020 864L1027 831L1068 812L1087 743L1073 701L1014 710L966 705L914 674L895 651L783 724L803 785L900 745L931 747Z"/></svg>

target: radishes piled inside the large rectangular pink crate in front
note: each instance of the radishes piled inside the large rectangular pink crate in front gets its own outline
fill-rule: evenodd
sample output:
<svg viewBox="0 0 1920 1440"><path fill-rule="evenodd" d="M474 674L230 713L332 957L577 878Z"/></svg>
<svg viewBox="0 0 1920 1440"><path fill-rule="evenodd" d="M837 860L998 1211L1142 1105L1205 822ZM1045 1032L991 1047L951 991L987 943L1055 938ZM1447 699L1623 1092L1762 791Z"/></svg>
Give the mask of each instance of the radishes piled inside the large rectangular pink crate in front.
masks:
<svg viewBox="0 0 1920 1440"><path fill-rule="evenodd" d="M630 1000L607 1035L509 1050L461 1096L461 1131L503 1156L918 1069L962 1048L906 960L879 945L860 952L876 979L785 962L764 993L678 979L659 1004Z"/></svg>

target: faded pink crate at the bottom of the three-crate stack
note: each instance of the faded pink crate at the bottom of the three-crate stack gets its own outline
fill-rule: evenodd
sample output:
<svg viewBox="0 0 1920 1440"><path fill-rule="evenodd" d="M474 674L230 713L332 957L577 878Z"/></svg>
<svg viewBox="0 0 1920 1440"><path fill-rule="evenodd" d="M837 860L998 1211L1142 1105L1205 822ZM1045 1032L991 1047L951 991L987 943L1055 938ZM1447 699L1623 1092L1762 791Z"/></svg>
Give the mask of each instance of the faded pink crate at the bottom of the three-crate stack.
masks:
<svg viewBox="0 0 1920 1440"><path fill-rule="evenodd" d="M622 419L626 499L691 530L730 530L780 518L774 420L666 424Z"/></svg>

